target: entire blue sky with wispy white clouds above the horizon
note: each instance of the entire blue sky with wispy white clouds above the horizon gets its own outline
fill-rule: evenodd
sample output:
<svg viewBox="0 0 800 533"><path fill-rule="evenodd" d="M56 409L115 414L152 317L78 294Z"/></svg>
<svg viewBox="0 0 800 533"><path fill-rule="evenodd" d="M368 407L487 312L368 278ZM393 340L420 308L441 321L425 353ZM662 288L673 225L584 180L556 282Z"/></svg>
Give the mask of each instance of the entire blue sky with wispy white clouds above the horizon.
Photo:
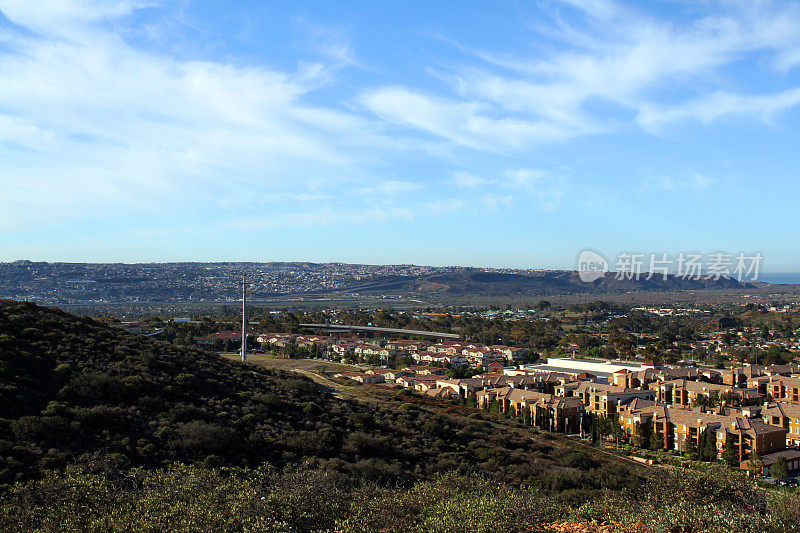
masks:
<svg viewBox="0 0 800 533"><path fill-rule="evenodd" d="M797 2L0 13L0 260L800 271Z"/></svg>

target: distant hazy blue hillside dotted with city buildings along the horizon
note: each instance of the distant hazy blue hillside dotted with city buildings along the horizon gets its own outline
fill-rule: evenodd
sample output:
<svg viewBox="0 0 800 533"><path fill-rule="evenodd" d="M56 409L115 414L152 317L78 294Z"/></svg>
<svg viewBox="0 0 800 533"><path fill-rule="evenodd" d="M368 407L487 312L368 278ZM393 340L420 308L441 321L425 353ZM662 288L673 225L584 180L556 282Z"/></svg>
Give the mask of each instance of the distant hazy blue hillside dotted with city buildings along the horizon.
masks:
<svg viewBox="0 0 800 533"><path fill-rule="evenodd" d="M0 263L0 298L43 305L237 300L247 274L253 299L294 297L447 299L463 296L687 291L754 287L722 277L617 279L584 283L567 270L356 265L345 263ZM419 303L425 303L419 302Z"/></svg>

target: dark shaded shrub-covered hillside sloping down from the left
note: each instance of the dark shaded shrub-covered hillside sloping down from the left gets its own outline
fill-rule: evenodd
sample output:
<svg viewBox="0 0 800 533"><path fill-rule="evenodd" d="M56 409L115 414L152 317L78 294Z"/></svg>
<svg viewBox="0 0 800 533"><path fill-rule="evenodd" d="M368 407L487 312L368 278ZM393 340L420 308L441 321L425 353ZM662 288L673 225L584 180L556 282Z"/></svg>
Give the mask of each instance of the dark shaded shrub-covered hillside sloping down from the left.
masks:
<svg viewBox="0 0 800 533"><path fill-rule="evenodd" d="M68 465L119 473L176 461L302 465L392 484L477 472L575 494L640 481L615 459L516 422L498 429L403 402L345 401L297 374L0 302L5 488Z"/></svg>

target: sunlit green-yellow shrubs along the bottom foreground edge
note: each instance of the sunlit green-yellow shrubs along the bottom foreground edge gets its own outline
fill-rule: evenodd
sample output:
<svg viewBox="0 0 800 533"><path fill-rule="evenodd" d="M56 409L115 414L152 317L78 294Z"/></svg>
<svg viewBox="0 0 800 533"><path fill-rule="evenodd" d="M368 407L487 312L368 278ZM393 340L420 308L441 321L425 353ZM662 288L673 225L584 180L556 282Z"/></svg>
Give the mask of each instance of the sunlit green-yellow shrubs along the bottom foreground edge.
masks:
<svg viewBox="0 0 800 533"><path fill-rule="evenodd" d="M564 501L485 476L410 487L329 471L172 465L122 478L71 467L0 498L3 531L788 533L800 502L730 472L658 469L636 489Z"/></svg>

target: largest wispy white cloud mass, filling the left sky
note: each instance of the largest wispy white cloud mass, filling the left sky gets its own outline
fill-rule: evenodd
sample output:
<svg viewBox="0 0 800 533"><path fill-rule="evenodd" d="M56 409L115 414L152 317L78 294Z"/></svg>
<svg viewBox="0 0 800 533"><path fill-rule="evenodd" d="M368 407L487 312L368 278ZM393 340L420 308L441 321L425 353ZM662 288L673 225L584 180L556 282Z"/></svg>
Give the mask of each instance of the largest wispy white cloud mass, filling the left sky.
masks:
<svg viewBox="0 0 800 533"><path fill-rule="evenodd" d="M193 203L232 209L247 191L301 198L320 176L330 190L369 187L371 162L403 151L374 121L306 102L330 82L324 64L182 61L110 29L150 4L0 0L17 28L0 50L6 227L190 213Z"/></svg>

